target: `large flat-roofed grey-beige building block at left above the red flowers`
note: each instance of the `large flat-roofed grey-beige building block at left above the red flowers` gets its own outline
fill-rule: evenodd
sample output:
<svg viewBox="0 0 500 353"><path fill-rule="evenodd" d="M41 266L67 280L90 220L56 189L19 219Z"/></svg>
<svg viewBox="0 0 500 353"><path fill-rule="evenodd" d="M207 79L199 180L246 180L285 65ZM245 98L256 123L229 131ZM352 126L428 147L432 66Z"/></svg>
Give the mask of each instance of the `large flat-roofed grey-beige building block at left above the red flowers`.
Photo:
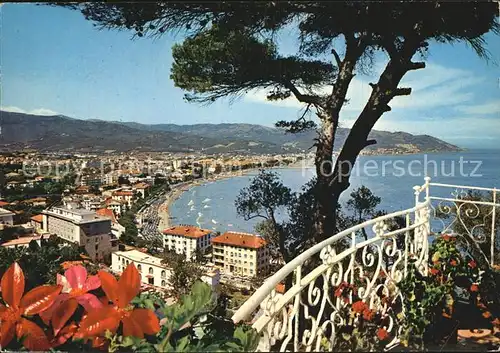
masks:
<svg viewBox="0 0 500 353"><path fill-rule="evenodd" d="M111 232L111 220L95 212L54 207L43 212L43 230L85 247L93 261L103 260L118 250L118 239Z"/></svg>

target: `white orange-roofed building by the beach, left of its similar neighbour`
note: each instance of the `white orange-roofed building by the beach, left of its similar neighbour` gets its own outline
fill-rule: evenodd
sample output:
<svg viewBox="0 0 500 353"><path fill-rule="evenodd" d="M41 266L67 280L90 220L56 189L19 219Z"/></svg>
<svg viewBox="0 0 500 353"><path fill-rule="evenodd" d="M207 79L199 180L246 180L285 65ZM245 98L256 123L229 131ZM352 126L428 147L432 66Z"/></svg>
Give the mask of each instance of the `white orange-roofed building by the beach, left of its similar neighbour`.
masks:
<svg viewBox="0 0 500 353"><path fill-rule="evenodd" d="M163 247L178 254L186 254L191 260L197 249L205 252L210 247L213 232L190 225L179 225L163 231Z"/></svg>

